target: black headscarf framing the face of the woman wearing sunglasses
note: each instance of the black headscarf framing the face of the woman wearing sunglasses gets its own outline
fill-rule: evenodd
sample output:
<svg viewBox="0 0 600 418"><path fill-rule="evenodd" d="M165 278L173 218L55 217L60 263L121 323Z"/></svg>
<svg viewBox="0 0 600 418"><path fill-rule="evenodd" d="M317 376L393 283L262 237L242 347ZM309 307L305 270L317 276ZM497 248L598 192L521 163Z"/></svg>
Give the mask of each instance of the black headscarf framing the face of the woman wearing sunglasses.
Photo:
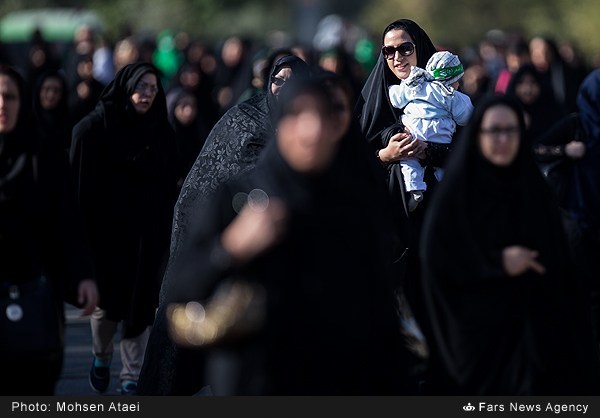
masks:
<svg viewBox="0 0 600 418"><path fill-rule="evenodd" d="M427 61L436 51L427 33L412 20L398 19L384 29L382 43L385 35L394 29L404 30L410 35L415 43L417 66L425 68ZM400 82L401 80L392 73L383 54L380 53L375 67L363 86L354 111L367 141L375 141L374 146L377 149L383 148L381 131L399 120L401 110L394 108L390 103L388 88Z"/></svg>

